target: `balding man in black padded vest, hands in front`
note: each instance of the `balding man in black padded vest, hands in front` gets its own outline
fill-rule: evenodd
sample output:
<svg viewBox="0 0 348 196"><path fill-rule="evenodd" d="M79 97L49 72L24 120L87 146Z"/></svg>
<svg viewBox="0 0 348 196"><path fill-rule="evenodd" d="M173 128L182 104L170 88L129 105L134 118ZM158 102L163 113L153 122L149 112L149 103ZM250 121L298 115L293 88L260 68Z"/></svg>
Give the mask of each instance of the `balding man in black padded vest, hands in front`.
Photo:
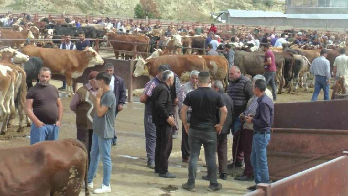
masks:
<svg viewBox="0 0 348 196"><path fill-rule="evenodd" d="M230 83L227 87L227 94L233 100L233 124L231 127L233 142L232 142L232 158L235 162L236 167L242 167L243 164L243 146L242 142L238 143L238 137L240 134L240 130L242 128L242 121L239 118L240 113L244 112L246 109L246 105L248 100L254 95L253 94L253 85L250 79L245 77L240 73L240 69L238 66L232 66L229 70L229 79ZM238 146L237 146L238 143ZM237 154L236 154L237 150ZM228 167L233 167L234 163L230 164Z"/></svg>

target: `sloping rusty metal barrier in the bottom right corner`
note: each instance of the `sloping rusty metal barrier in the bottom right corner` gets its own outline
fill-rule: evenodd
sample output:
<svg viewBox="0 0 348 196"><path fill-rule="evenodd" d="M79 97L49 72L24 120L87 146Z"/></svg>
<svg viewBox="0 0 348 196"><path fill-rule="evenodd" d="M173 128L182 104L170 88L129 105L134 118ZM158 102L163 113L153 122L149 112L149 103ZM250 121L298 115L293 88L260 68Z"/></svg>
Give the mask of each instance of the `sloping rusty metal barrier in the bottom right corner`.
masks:
<svg viewBox="0 0 348 196"><path fill-rule="evenodd" d="M244 196L346 196L348 157L340 156L271 184L259 184Z"/></svg>

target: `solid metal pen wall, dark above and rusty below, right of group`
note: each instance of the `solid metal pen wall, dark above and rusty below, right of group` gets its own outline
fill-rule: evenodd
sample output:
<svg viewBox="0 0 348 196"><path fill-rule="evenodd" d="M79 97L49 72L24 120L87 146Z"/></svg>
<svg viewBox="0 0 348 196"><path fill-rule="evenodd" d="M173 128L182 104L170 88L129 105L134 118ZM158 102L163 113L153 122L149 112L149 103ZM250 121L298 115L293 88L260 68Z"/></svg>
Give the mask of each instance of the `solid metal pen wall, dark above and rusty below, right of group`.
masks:
<svg viewBox="0 0 348 196"><path fill-rule="evenodd" d="M269 174L279 180L348 150L348 99L275 104L267 147Z"/></svg>

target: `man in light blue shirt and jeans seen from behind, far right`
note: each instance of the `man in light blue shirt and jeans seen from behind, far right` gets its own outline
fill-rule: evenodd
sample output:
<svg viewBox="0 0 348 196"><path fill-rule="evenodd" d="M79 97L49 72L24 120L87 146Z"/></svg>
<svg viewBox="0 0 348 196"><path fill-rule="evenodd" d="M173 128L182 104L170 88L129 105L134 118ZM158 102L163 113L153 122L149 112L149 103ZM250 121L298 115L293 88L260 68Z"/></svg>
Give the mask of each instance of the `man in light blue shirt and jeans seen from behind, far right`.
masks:
<svg viewBox="0 0 348 196"><path fill-rule="evenodd" d="M320 56L315 58L310 66L310 72L315 76L312 101L317 101L320 91L324 91L324 100L329 100L329 83L331 78L330 62L326 59L327 50L322 49Z"/></svg>

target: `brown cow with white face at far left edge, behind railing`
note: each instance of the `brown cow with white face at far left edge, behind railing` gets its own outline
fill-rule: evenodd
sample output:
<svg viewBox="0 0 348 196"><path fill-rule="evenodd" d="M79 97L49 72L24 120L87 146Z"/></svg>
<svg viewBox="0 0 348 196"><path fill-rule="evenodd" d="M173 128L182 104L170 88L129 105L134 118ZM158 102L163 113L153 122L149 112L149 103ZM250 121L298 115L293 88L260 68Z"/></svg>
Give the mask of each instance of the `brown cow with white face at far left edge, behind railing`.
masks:
<svg viewBox="0 0 348 196"><path fill-rule="evenodd" d="M10 31L7 29L0 29L1 34L0 34L0 39L34 39L33 34L29 29L23 30L21 32L16 32L16 31ZM16 46L17 48L20 48L22 44L24 44L25 40L21 41L5 41L2 40L2 42L6 45L10 46Z"/></svg>

